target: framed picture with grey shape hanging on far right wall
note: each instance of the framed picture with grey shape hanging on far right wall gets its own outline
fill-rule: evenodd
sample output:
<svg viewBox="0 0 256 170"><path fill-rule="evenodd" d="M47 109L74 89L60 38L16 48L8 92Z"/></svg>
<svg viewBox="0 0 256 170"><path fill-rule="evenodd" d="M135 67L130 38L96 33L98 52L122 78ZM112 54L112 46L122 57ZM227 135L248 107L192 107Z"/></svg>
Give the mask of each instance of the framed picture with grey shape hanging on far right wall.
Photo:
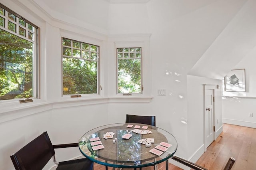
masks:
<svg viewBox="0 0 256 170"><path fill-rule="evenodd" d="M224 80L225 91L245 92L245 69L231 70Z"/></svg>

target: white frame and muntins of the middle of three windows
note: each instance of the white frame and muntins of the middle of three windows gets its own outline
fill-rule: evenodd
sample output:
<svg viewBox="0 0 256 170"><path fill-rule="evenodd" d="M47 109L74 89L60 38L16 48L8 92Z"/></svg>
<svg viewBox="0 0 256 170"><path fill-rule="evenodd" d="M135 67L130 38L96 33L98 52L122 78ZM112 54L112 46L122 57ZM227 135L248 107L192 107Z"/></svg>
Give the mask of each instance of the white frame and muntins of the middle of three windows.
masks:
<svg viewBox="0 0 256 170"><path fill-rule="evenodd" d="M86 44L89 44L89 45L94 45L94 46L97 46L98 48L98 51L96 51L97 53L97 60L90 60L90 59L84 59L82 58L82 47L80 47L80 57L73 57L73 46L72 46L72 43L71 43L71 56L67 56L67 55L63 55L63 47L67 47L67 46L63 46L63 38L65 39L68 39L68 40L71 40L72 42L75 41L75 42L80 42L81 45L82 43L86 43ZM78 49L78 48L75 48L75 49ZM88 51L88 50L87 50ZM91 50L89 50L91 51ZM80 95L80 97L83 97L83 96L91 96L91 95L100 95L100 91L102 90L102 86L100 85L100 45L96 45L95 43L90 43L90 42L84 42L83 40L80 40L79 38L76 38L76 36L72 36L72 38L70 38L70 36L66 36L66 34L62 34L61 35L61 82L62 82L62 85L61 85L61 94L62 94L62 97L69 97L69 96L74 96L74 95ZM64 57L69 57L69 58L73 58L73 59L83 59L85 61L96 61L97 62L97 93L84 93L84 94L69 94L69 95L64 95L63 94L63 58Z"/></svg>

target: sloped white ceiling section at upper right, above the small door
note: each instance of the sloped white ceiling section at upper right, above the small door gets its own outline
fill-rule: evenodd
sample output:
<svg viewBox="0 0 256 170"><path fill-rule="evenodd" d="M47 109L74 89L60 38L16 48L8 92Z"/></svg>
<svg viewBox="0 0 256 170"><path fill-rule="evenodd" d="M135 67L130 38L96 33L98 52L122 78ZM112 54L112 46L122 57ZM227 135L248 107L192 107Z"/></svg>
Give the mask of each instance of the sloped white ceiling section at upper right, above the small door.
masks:
<svg viewBox="0 0 256 170"><path fill-rule="evenodd" d="M242 0L236 1L243 4ZM256 1L244 2L244 5L200 57L189 74L222 79L244 57L255 51ZM235 4L232 3L232 5Z"/></svg>

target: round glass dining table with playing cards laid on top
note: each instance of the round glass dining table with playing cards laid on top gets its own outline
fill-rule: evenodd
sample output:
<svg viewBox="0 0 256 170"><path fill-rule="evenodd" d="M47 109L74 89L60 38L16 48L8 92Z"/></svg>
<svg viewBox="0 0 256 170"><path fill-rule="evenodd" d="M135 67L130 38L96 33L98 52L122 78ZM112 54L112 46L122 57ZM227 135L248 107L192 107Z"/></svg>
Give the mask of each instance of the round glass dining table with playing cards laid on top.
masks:
<svg viewBox="0 0 256 170"><path fill-rule="evenodd" d="M167 170L168 159L177 150L177 141L162 128L116 123L86 132L79 140L79 149L86 158L106 166L106 169L141 169L166 161Z"/></svg>

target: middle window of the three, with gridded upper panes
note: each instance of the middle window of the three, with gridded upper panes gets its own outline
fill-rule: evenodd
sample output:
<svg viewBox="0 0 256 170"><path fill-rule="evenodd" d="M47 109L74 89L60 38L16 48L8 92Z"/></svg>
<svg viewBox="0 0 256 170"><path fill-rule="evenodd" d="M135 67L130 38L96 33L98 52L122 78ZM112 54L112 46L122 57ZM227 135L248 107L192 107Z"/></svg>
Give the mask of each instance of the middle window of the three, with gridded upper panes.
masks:
<svg viewBox="0 0 256 170"><path fill-rule="evenodd" d="M62 38L62 93L98 94L99 46Z"/></svg>

